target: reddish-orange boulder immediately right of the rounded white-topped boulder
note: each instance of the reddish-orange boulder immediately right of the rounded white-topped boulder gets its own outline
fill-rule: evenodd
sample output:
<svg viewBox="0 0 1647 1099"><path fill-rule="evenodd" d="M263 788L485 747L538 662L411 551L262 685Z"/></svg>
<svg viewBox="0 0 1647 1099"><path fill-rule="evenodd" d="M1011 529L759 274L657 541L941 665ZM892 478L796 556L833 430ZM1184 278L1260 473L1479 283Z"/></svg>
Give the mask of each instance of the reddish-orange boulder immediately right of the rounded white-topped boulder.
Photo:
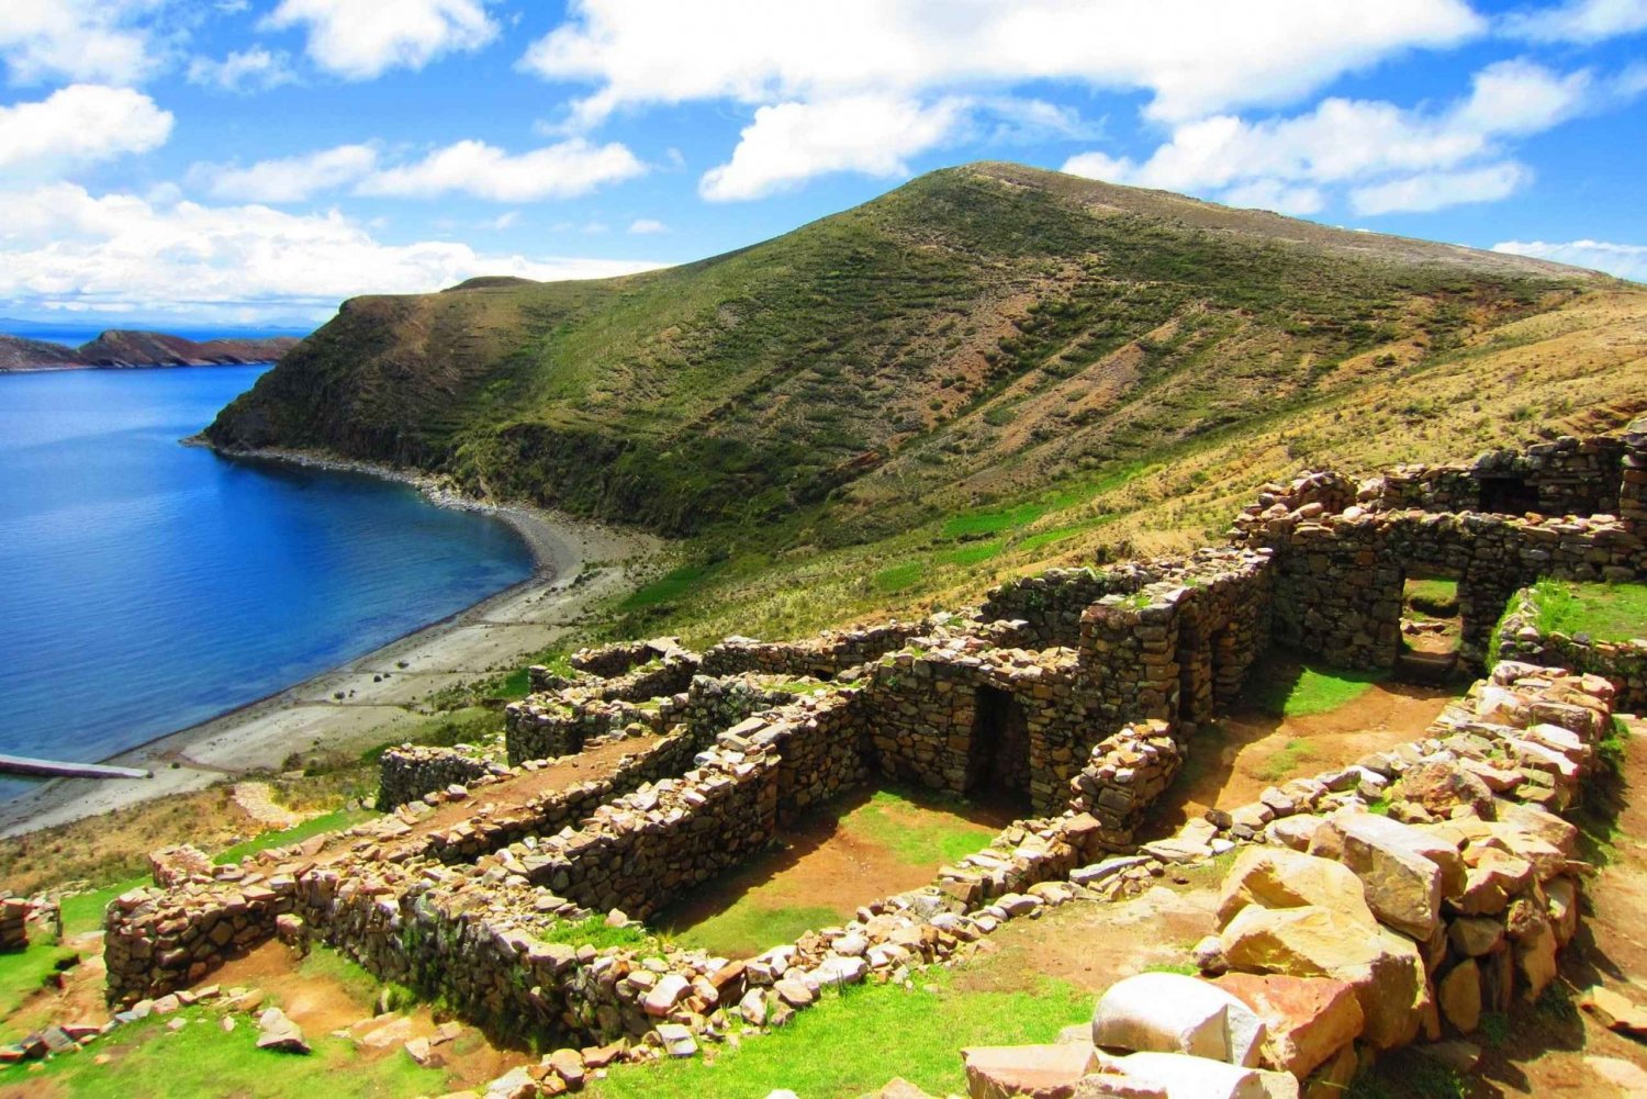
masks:
<svg viewBox="0 0 1647 1099"><path fill-rule="evenodd" d="M1217 985L1263 1020L1263 1064L1303 1079L1360 1036L1355 989L1331 977L1225 974Z"/></svg>

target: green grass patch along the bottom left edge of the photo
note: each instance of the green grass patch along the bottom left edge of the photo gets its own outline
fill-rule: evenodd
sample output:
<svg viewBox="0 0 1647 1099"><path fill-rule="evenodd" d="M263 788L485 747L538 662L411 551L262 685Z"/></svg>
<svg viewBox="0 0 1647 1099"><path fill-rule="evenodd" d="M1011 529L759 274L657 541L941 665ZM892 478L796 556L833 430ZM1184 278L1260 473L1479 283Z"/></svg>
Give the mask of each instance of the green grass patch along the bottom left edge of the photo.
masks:
<svg viewBox="0 0 1647 1099"><path fill-rule="evenodd" d="M165 1023L181 1018L186 1025L170 1031ZM92 1056L53 1058L36 1076L26 1068L0 1071L0 1087L40 1081L74 1099L285 1099L287 1096L328 1096L338 1099L402 1099L448 1091L440 1069L418 1068L404 1055L367 1061L352 1041L310 1035L311 1056L270 1053L257 1048L257 1027L239 1020L232 1033L217 1028L217 1015L186 1008L166 1020L143 1020L122 1027L97 1045L114 1056L96 1064Z"/></svg>

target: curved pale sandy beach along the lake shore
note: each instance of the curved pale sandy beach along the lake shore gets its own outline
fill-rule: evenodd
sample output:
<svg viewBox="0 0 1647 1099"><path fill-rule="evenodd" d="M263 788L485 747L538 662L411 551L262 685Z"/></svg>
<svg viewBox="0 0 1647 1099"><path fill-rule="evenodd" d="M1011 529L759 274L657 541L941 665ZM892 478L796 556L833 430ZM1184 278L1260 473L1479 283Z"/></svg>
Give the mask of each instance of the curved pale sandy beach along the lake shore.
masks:
<svg viewBox="0 0 1647 1099"><path fill-rule="evenodd" d="M492 511L532 547L537 572L348 664L105 760L150 769L153 778L56 779L0 802L0 835L280 769L295 751L364 751L394 740L423 720L417 707L432 692L519 667L573 629L595 601L631 587L631 572L662 547L634 531L473 501L417 473L308 453L257 455L270 458L387 476L417 484L441 506Z"/></svg>

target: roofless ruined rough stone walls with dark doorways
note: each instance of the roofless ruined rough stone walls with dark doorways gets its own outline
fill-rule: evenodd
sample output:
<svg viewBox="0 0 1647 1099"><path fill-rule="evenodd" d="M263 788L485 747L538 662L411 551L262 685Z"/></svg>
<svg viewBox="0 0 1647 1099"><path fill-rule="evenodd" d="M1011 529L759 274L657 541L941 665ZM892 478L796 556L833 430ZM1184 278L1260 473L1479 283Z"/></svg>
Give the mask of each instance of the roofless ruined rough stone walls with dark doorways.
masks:
<svg viewBox="0 0 1647 1099"><path fill-rule="evenodd" d="M1377 959L1342 972L1298 962L1319 962L1331 972L1309 975L1365 1000L1362 1028L1334 1055L1469 1033L1454 1008L1472 1000L1471 982L1456 974L1474 974L1484 1003L1507 1002L1542 987L1571 934L1581 867L1555 814L1583 789L1617 692L1642 690L1634 649L1634 664L1601 646L1579 659L1517 628L1522 648L1504 652L1540 664L1491 669L1411 745L1168 839L1140 845L1135 834L1268 646L1390 667L1405 578L1444 570L1459 582L1461 659L1481 667L1519 588L1642 578L1644 488L1639 422L1621 438L1471 466L1360 483L1304 475L1265 486L1225 547L1013 580L970 613L799 643L728 638L702 654L674 638L583 651L572 676L532 669L535 694L509 707L501 745L387 753L392 812L380 821L229 867L176 852L156 862L156 888L109 908L109 998L130 1007L186 989L283 929L441 998L501 1041L690 1055L781 1025L822 985L903 979L1043 906L1117 900L1164 865L1242 847L1331 862L1365 893L1375 919L1352 924L1380 944ZM583 781L511 796L596 748L623 755ZM881 779L1008 797L1026 816L937 868L931 886L754 959L568 938L591 916L654 914L768 849L805 809ZM1242 895L1257 911L1316 903L1257 888ZM1476 951L1491 938L1481 921L1509 929ZM1242 970L1245 942L1220 941L1214 964Z"/></svg>

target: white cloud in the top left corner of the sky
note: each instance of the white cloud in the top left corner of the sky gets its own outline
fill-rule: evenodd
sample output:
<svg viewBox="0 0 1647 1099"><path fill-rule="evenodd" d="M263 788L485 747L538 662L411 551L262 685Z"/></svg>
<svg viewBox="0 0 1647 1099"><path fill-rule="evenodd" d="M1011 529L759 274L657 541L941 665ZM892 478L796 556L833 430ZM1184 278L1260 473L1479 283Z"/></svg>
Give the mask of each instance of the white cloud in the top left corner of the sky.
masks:
<svg viewBox="0 0 1647 1099"><path fill-rule="evenodd" d="M158 58L132 21L153 7L153 0L5 0L0 58L20 84L135 84L155 71Z"/></svg>

